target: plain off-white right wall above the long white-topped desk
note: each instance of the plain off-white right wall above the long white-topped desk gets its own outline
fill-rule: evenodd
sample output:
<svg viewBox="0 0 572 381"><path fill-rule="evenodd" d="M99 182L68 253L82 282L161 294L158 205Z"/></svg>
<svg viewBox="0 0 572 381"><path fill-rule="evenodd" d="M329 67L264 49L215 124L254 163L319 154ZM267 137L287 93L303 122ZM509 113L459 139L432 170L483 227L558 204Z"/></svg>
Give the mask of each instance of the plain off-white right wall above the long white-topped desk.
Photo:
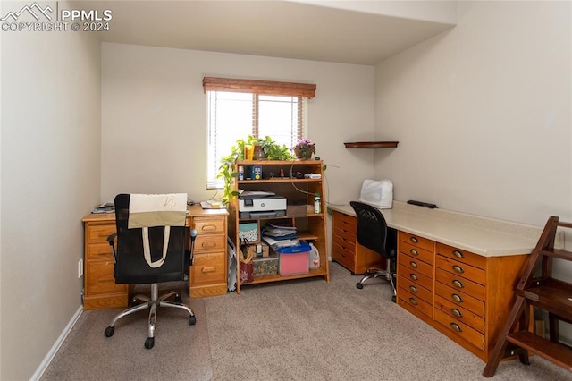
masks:
<svg viewBox="0 0 572 381"><path fill-rule="evenodd" d="M572 221L571 5L460 2L457 27L376 66L375 132L400 145L374 170L395 199Z"/></svg>

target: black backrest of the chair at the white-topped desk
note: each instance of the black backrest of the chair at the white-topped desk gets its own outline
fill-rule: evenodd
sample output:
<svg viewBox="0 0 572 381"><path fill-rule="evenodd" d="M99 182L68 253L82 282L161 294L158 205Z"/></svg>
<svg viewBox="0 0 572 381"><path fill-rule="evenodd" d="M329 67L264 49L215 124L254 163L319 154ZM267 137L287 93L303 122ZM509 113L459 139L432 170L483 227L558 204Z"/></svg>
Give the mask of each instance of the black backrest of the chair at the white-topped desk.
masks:
<svg viewBox="0 0 572 381"><path fill-rule="evenodd" d="M351 201L349 205L353 207L357 216L357 242L385 258L395 258L395 250L387 250L388 228L382 212L359 201Z"/></svg>

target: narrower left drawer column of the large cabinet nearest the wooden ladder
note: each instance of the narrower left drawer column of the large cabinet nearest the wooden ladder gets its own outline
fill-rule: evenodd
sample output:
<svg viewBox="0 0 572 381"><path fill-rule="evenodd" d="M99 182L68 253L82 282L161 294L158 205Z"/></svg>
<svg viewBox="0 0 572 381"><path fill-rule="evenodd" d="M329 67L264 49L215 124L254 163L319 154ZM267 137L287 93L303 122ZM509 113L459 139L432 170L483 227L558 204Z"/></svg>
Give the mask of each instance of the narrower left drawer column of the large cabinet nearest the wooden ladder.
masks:
<svg viewBox="0 0 572 381"><path fill-rule="evenodd" d="M433 246L434 241L398 232L398 303L424 318L433 318Z"/></svg>

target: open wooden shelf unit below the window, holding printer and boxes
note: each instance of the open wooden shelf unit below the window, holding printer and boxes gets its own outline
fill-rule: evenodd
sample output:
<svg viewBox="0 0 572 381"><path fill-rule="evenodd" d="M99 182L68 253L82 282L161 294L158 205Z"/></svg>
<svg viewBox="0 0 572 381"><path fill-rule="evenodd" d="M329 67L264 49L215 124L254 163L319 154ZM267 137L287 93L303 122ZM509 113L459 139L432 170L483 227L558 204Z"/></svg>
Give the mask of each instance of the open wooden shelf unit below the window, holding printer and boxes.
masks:
<svg viewBox="0 0 572 381"><path fill-rule="evenodd" d="M250 174L252 165L262 166L262 180L246 180ZM315 276L323 276L326 282L330 281L330 269L328 264L328 247L326 240L326 214L324 202L324 163L321 160L254 160L254 161L237 161L234 171L238 172L238 167L245 169L245 180L234 180L234 190L262 190L273 192L276 195L283 196L287 199L288 205L314 205L315 193L322 196L321 213L306 213L301 216L278 216L265 218L240 218L239 199L231 199L229 203L229 236L235 244L237 251L240 250L239 239L239 223L257 223L258 232L266 223L280 224L284 226L297 227L299 240L312 242L320 254L320 267L315 270L309 270L307 274L301 275L265 275L254 277L253 282L240 282L240 252L237 252L237 293L240 288L248 284L263 284L270 282L286 281L290 279L300 279ZM320 174L319 179L306 178L290 178L279 177L280 174L290 176L290 174ZM258 234L260 242L260 234Z"/></svg>

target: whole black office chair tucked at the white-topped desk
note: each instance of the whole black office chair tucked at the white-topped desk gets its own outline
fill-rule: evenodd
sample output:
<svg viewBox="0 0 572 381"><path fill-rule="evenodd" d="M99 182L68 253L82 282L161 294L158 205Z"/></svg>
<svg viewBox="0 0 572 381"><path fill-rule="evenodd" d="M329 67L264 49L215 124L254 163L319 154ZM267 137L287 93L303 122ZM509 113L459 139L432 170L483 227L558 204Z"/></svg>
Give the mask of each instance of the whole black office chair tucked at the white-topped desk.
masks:
<svg viewBox="0 0 572 381"><path fill-rule="evenodd" d="M384 277L390 281L393 288L391 301L396 301L395 280L397 275L395 273L395 261L397 259L397 250L395 243L397 239L389 237L391 239L388 240L388 227L379 209L358 201L351 201L349 205L353 207L357 216L357 242L367 249L374 250L386 259L386 269L368 268L364 277L356 284L356 287L361 290L364 288L364 283L367 279ZM391 242L391 245L388 242Z"/></svg>

